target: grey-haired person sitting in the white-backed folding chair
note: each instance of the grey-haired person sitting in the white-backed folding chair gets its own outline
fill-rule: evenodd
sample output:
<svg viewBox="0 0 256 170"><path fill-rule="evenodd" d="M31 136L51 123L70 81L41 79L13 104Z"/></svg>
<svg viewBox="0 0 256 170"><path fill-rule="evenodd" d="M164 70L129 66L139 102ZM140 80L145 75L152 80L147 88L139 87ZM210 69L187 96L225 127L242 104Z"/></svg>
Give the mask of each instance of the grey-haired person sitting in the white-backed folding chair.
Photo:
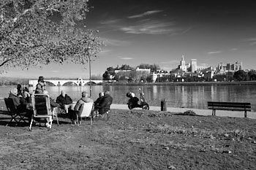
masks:
<svg viewBox="0 0 256 170"><path fill-rule="evenodd" d="M77 114L80 111L80 107L84 103L94 103L94 100L89 97L89 94L86 91L82 92L82 98L78 100L76 104L72 106L72 112L70 112L69 117L72 121L72 124L76 124ZM79 122L79 121L78 121Z"/></svg>

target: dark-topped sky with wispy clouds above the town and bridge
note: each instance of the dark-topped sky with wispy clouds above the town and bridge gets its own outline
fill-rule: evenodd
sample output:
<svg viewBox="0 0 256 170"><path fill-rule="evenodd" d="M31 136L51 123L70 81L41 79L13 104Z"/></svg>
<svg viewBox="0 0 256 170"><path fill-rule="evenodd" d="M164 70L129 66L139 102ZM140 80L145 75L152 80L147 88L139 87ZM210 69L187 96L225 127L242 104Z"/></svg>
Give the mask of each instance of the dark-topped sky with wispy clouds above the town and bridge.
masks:
<svg viewBox="0 0 256 170"><path fill-rule="evenodd" d="M140 63L176 69L184 55L197 66L241 61L243 69L256 69L256 1L249 0L89 0L86 28L98 30L105 42L91 63L91 74L110 67ZM64 65L10 69L7 77L89 78L89 66Z"/></svg>

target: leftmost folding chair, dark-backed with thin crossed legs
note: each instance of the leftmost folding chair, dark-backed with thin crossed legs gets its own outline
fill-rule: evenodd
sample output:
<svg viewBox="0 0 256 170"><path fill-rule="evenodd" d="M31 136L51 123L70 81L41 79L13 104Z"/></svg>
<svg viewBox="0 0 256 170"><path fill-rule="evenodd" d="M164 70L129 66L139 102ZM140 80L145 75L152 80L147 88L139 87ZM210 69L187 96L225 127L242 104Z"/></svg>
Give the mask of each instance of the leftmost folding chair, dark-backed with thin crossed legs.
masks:
<svg viewBox="0 0 256 170"><path fill-rule="evenodd" d="M5 105L7 106L9 115L12 117L9 123L11 123L13 120L15 120L15 122L17 123L16 125L18 125L21 120L23 120L24 123L27 123L26 120L24 119L26 112L19 112L17 107L15 107L15 104L12 98L4 98L4 102L5 102ZM9 125L9 123L7 123L7 125Z"/></svg>

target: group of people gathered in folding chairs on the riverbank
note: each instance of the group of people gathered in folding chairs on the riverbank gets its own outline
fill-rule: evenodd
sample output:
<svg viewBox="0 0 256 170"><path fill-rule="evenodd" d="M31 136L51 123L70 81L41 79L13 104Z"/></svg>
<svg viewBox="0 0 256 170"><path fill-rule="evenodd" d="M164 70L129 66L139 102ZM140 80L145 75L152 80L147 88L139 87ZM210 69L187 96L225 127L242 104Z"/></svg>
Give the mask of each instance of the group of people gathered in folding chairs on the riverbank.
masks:
<svg viewBox="0 0 256 170"><path fill-rule="evenodd" d="M48 91L45 90L45 82L42 76L39 77L38 84L34 90L35 94L48 94ZM26 117L31 121L31 116L33 115L33 110L28 106L31 104L31 96L28 88L23 88L21 85L18 85L17 88L12 88L10 90L9 98L12 98L15 107L17 107L18 112L26 112ZM65 113L69 115L69 118L72 120L72 123L75 124L76 114L80 111L82 104L84 103L94 103L94 111L99 112L99 115L104 115L106 112L106 106L109 101L113 101L113 98L110 96L110 91L106 90L104 93L99 93L99 98L94 101L89 97L89 94L86 91L82 92L82 97L76 102L73 103L72 98L67 95L64 90L61 90L61 94L56 98L56 101L53 98L50 98L50 108L53 112L53 108L59 107L64 109ZM103 116L102 116L103 117ZM45 125L50 125L52 119L46 119Z"/></svg>

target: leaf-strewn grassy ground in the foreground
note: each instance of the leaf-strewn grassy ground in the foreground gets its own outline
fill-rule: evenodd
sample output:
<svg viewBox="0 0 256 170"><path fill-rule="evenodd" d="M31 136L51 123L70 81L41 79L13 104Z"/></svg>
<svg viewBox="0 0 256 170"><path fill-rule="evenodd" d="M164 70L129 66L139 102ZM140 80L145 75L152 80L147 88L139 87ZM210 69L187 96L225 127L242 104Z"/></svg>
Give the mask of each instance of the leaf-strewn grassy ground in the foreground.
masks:
<svg viewBox="0 0 256 170"><path fill-rule="evenodd" d="M256 120L112 109L110 120L5 126L0 169L256 169Z"/></svg>

